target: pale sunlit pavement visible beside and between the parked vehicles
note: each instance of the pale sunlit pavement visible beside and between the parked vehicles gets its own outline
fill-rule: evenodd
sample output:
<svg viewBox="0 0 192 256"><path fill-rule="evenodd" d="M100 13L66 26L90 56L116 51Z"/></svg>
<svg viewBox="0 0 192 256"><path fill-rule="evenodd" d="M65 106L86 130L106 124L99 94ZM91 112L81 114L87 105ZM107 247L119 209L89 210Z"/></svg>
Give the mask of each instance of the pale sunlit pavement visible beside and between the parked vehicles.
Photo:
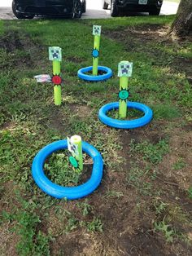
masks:
<svg viewBox="0 0 192 256"><path fill-rule="evenodd" d="M0 0L0 20L13 20L15 16L11 11L12 0ZM166 2L161 8L161 15L171 15L177 12L176 2ZM102 9L102 0L87 0L87 11L83 19L106 19L111 18L110 11Z"/></svg>

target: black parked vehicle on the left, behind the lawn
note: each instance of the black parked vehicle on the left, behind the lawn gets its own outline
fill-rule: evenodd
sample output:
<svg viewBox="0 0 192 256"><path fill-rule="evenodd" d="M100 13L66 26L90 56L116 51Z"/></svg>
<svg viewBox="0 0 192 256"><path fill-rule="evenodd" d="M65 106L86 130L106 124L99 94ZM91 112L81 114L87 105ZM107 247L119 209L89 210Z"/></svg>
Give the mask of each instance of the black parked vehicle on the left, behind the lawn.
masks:
<svg viewBox="0 0 192 256"><path fill-rule="evenodd" d="M35 15L81 18L86 0L13 0L12 11L18 19L33 19Z"/></svg>

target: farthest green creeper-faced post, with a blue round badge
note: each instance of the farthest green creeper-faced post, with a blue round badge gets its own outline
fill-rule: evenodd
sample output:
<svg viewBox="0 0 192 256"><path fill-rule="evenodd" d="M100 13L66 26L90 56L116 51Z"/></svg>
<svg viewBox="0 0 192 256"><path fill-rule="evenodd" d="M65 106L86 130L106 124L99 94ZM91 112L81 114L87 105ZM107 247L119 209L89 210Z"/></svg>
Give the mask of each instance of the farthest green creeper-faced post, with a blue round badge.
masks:
<svg viewBox="0 0 192 256"><path fill-rule="evenodd" d="M93 55L93 75L98 75L98 55L100 49L100 39L101 39L101 26L93 26L93 35L94 35L94 50L92 51Z"/></svg>

